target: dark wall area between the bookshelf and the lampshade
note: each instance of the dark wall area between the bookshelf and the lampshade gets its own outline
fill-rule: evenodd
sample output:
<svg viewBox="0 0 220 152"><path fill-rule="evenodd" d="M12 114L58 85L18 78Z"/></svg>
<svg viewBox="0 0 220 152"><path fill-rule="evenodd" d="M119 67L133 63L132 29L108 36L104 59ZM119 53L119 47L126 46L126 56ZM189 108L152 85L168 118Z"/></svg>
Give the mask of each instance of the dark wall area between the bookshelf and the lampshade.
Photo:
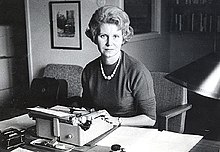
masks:
<svg viewBox="0 0 220 152"><path fill-rule="evenodd" d="M170 71L214 51L214 37L208 33L170 34Z"/></svg>

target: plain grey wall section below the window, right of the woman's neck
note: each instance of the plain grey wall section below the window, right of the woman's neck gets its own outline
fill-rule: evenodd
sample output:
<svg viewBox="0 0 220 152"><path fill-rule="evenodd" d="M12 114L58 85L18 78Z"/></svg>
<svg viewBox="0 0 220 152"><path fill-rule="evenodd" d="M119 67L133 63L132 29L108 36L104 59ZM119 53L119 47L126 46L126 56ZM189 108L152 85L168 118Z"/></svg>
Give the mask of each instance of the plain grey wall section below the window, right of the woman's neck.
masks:
<svg viewBox="0 0 220 152"><path fill-rule="evenodd" d="M142 61L150 71L169 72L169 36L131 42L125 48L128 54Z"/></svg>

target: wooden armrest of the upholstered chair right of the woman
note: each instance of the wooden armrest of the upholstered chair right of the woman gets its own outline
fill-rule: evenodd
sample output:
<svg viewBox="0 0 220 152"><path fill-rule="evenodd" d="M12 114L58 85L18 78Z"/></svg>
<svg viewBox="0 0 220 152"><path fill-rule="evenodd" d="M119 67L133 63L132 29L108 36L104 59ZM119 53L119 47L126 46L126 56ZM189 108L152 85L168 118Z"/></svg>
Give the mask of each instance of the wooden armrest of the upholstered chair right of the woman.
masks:
<svg viewBox="0 0 220 152"><path fill-rule="evenodd" d="M168 130L168 120L170 118L182 114L191 108L191 104L185 104L158 114L158 130Z"/></svg>

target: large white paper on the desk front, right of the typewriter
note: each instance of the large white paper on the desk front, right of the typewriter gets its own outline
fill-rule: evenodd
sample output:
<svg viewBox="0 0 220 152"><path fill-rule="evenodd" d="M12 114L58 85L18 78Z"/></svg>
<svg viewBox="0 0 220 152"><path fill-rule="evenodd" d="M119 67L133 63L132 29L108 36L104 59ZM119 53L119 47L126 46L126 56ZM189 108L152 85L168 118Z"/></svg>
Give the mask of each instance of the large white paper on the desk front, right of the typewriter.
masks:
<svg viewBox="0 0 220 152"><path fill-rule="evenodd" d="M110 147L119 144L126 152L186 152L196 145L202 136L186 135L156 129L119 127L97 145Z"/></svg>

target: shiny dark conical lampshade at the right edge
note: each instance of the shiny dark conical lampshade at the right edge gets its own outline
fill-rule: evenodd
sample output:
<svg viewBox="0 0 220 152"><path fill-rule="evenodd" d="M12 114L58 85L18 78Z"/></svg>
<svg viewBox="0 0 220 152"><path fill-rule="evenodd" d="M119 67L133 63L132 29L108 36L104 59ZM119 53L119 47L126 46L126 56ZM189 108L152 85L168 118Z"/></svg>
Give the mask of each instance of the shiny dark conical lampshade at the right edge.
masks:
<svg viewBox="0 0 220 152"><path fill-rule="evenodd" d="M165 78L190 91L220 100L220 52L199 58Z"/></svg>

